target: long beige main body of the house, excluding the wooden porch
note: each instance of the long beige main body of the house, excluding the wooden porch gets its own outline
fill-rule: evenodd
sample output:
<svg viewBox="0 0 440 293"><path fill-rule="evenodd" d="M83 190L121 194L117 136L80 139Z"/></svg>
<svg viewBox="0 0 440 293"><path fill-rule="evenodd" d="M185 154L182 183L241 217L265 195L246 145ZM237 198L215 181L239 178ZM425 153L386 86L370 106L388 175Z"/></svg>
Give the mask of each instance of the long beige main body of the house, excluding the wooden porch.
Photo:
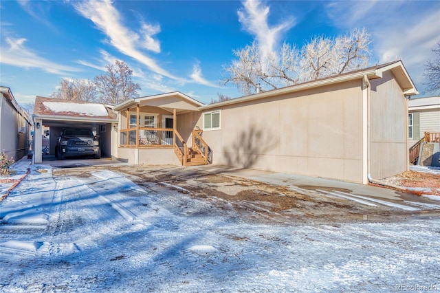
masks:
<svg viewBox="0 0 440 293"><path fill-rule="evenodd" d="M415 94L396 61L203 106L197 125L217 164L366 184L408 170Z"/></svg>

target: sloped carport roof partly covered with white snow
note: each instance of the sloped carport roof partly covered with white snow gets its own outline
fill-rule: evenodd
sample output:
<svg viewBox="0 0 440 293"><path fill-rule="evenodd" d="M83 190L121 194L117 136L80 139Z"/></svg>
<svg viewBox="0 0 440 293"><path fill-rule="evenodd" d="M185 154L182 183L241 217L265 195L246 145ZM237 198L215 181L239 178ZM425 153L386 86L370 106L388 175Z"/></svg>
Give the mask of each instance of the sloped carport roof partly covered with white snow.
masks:
<svg viewBox="0 0 440 293"><path fill-rule="evenodd" d="M35 98L34 118L83 122L118 122L118 116L107 105L41 96Z"/></svg>

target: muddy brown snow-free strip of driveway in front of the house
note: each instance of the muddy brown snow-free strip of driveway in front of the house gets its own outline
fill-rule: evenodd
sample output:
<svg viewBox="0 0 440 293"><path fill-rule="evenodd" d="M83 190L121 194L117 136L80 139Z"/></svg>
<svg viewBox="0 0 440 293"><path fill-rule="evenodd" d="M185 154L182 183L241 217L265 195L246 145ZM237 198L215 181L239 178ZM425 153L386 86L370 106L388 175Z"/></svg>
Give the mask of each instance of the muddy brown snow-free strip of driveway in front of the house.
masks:
<svg viewBox="0 0 440 293"><path fill-rule="evenodd" d="M316 221L325 223L347 221L394 221L412 217L414 212L390 209L386 206L366 206L355 202L327 197L304 188L292 191L285 186L265 184L242 177L208 173L199 169L164 166L96 166L90 171L105 168L128 177L143 188L154 184L173 190L176 202L179 194L209 202L210 210L197 212L220 213L251 221ZM88 169L56 169L54 175L89 176ZM321 188L325 189L325 188ZM334 189L334 188L333 188ZM215 209L215 210L214 210ZM421 212L423 214L426 212Z"/></svg>

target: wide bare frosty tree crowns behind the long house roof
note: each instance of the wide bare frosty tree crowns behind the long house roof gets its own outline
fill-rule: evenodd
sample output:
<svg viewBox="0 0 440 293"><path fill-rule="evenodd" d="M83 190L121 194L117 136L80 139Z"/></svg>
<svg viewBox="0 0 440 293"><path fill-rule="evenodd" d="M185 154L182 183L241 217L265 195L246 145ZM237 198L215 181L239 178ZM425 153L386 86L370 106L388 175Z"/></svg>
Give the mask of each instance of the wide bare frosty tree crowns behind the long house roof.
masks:
<svg viewBox="0 0 440 293"><path fill-rule="evenodd" d="M296 85L309 80L342 74L368 65L370 35L364 30L353 30L336 38L316 36L302 48L283 43L276 56L261 54L256 43L234 50L238 60L225 68L228 78L242 94Z"/></svg>

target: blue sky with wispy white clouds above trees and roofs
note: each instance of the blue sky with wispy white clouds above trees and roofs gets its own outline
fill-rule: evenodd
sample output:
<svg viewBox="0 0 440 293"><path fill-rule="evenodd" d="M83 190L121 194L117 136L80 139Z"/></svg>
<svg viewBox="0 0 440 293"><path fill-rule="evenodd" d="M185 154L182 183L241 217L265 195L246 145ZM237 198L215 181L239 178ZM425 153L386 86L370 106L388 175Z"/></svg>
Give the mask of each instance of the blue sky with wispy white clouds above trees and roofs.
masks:
<svg viewBox="0 0 440 293"><path fill-rule="evenodd" d="M61 78L93 79L122 60L140 96L181 91L209 103L232 50L298 47L365 28L371 65L401 59L423 95L423 63L440 40L440 1L1 1L0 85L19 103Z"/></svg>

